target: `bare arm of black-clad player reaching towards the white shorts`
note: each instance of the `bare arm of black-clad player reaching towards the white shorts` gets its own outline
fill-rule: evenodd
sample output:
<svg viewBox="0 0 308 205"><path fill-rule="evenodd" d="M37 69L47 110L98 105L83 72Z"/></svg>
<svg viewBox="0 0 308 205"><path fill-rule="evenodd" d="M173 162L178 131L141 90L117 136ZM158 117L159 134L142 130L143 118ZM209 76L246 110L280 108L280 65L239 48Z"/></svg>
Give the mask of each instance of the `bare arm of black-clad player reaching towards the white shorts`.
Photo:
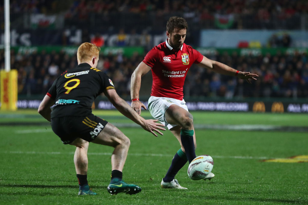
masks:
<svg viewBox="0 0 308 205"><path fill-rule="evenodd" d="M163 124L156 123L158 120L145 120L143 117L137 114L128 104L124 101L115 91L115 89L109 89L104 92L108 97L110 102L119 110L124 116L133 120L137 124L139 124L146 131L151 132L153 135L157 137L157 133L163 135L159 130L166 130ZM154 132L155 131L155 132Z"/></svg>

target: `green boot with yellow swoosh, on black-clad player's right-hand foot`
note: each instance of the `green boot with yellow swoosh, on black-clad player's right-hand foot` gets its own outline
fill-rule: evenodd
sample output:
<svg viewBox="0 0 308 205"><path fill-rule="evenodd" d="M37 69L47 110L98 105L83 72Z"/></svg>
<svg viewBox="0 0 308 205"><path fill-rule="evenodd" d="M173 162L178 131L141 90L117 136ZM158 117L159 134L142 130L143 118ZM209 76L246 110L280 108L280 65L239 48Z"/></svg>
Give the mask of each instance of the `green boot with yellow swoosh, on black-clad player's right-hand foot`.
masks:
<svg viewBox="0 0 308 205"><path fill-rule="evenodd" d="M141 191L141 188L135 184L127 184L124 182L124 180L115 182L115 183L110 183L107 187L108 193L111 195L124 192L126 194L137 194Z"/></svg>

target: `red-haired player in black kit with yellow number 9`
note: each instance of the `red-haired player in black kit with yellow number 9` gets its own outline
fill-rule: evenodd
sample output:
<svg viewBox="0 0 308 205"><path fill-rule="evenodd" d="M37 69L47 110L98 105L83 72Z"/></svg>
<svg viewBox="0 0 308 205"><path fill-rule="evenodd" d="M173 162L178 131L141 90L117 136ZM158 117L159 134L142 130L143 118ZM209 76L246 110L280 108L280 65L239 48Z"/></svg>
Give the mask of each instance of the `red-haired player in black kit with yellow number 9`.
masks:
<svg viewBox="0 0 308 205"><path fill-rule="evenodd" d="M145 120L116 93L111 79L96 69L99 47L83 43L77 51L78 66L59 76L39 105L38 112L51 122L51 128L63 144L76 146L74 163L79 181L78 195L96 195L87 182L87 150L89 142L114 147L111 155L111 182L107 191L111 194L125 192L136 194L141 188L122 180L122 170L130 140L111 123L92 114L94 99L104 93L123 115L157 136L164 125L157 120ZM51 110L51 106L55 105ZM155 131L155 132L154 132Z"/></svg>

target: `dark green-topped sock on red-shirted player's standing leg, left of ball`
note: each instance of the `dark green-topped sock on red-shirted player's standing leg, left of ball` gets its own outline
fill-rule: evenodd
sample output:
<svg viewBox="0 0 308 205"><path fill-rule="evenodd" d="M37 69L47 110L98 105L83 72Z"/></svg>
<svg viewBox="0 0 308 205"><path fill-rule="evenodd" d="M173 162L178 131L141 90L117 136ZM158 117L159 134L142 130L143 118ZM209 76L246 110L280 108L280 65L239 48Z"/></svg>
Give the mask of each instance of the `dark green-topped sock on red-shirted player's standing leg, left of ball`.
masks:
<svg viewBox="0 0 308 205"><path fill-rule="evenodd" d="M167 171L167 174L164 177L164 182L171 182L177 172L186 164L187 157L182 149L179 149L177 153L174 155L171 165Z"/></svg>

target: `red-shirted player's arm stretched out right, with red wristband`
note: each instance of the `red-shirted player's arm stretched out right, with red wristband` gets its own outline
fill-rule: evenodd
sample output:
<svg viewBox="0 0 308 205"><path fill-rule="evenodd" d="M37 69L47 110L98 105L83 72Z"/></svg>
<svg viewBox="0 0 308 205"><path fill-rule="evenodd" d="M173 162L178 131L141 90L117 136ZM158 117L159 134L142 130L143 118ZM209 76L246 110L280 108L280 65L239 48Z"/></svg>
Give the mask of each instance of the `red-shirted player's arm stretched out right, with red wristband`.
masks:
<svg viewBox="0 0 308 205"><path fill-rule="evenodd" d="M200 62L200 65L205 68L212 69L216 73L230 75L230 76L237 76L241 79L246 80L249 83L251 83L250 79L256 81L257 80L256 77L259 77L257 74L254 73L237 71L236 69L233 69L228 65L225 65L217 61L212 61L205 56L203 56L203 60Z"/></svg>

